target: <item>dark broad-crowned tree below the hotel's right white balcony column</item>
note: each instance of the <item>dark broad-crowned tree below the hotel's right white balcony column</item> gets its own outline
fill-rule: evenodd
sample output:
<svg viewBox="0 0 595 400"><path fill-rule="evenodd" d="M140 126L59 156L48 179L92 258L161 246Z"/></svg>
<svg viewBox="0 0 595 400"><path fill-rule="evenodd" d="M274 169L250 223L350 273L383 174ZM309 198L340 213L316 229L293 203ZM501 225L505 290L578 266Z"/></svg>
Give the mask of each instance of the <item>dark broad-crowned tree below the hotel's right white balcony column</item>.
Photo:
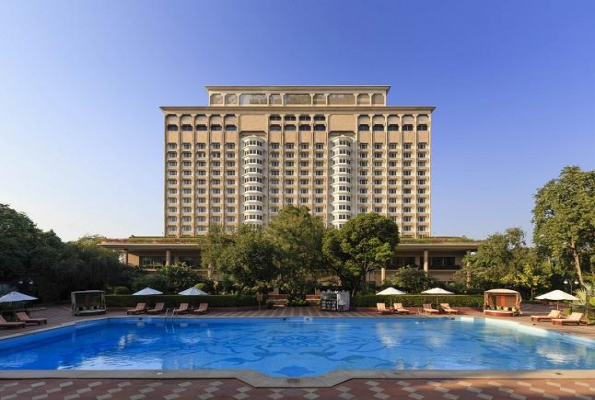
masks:
<svg viewBox="0 0 595 400"><path fill-rule="evenodd" d="M329 232L324 251L343 284L352 294L361 290L368 274L385 266L395 256L399 228L376 213L358 214L337 231Z"/></svg>

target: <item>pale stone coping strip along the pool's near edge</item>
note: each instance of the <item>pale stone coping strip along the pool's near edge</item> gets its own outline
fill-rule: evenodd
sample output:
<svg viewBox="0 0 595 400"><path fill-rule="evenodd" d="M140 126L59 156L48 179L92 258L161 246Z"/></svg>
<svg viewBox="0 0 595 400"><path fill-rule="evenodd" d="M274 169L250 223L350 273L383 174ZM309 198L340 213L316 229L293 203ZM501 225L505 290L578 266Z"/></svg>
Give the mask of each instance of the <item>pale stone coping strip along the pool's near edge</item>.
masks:
<svg viewBox="0 0 595 400"><path fill-rule="evenodd" d="M352 379L592 379L593 370L339 370L317 377L271 377L252 370L20 370L0 371L0 380L15 379L238 379L255 388L328 388Z"/></svg>

